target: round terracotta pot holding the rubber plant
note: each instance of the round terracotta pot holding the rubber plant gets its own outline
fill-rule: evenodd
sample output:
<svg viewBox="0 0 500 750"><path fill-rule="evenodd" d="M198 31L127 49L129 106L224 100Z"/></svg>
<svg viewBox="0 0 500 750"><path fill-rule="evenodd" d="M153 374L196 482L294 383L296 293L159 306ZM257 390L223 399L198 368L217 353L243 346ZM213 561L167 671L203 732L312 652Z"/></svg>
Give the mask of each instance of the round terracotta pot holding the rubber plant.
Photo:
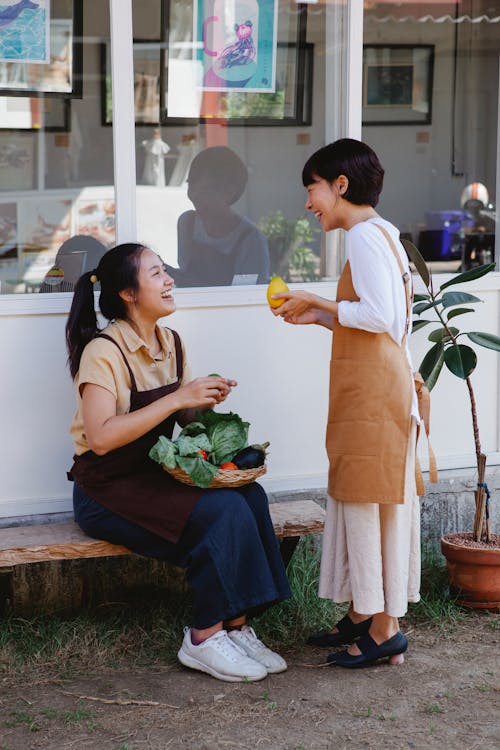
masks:
<svg viewBox="0 0 500 750"><path fill-rule="evenodd" d="M467 547L460 544L463 536L447 534L441 539L450 591L464 607L500 611L500 548Z"/></svg>

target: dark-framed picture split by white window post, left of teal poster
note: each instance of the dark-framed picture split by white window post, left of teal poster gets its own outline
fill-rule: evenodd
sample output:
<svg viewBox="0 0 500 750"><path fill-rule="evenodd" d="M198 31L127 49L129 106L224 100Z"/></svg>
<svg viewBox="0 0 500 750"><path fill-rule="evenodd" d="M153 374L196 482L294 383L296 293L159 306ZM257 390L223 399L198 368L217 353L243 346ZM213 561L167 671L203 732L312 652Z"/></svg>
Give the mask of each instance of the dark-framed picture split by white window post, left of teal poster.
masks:
<svg viewBox="0 0 500 750"><path fill-rule="evenodd" d="M134 107L137 125L158 125L160 122L160 87L162 48L158 41L134 40ZM101 45L101 115L102 124L113 121L111 49Z"/></svg>

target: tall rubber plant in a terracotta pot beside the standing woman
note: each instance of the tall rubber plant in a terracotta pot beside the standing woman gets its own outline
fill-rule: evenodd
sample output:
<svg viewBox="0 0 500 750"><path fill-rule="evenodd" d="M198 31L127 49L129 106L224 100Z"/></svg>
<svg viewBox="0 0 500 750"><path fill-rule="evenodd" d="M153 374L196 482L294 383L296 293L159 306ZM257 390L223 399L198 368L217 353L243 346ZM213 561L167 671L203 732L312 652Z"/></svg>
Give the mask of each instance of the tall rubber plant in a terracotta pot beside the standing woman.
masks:
<svg viewBox="0 0 500 750"><path fill-rule="evenodd" d="M476 399L471 375L477 364L476 351L465 343L472 343L500 352L500 338L491 333L461 331L457 327L459 316L473 313L474 305L481 300L463 291L450 291L450 287L479 279L494 270L495 264L477 266L459 273L436 289L432 274L415 245L403 240L425 287L425 294L414 297L413 332L424 326L438 324L428 339L429 351L420 364L420 374L429 390L435 386L443 369L465 381L477 463L477 489L475 490L474 527L471 531L446 534L441 539L441 550L446 558L450 588L465 606L484 609L500 608L500 535L491 533L490 496L486 484L486 455L481 448ZM443 368L444 366L444 368Z"/></svg>

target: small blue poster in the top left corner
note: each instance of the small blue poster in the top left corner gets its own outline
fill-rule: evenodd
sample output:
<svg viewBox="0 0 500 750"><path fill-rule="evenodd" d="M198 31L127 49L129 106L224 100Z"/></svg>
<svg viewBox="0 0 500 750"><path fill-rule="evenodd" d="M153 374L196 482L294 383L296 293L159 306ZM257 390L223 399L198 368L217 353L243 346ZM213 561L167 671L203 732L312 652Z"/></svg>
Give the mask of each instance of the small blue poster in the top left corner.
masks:
<svg viewBox="0 0 500 750"><path fill-rule="evenodd" d="M50 62L50 0L0 0L0 60Z"/></svg>

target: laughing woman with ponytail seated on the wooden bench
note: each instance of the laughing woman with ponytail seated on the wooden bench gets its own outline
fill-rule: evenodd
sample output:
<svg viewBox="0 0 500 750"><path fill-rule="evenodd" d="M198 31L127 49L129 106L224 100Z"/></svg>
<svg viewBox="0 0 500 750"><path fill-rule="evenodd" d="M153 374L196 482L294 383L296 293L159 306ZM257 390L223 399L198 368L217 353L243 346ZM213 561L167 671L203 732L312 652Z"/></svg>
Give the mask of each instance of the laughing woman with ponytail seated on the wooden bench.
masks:
<svg viewBox="0 0 500 750"><path fill-rule="evenodd" d="M111 321L102 331L96 281ZM182 664L230 682L260 680L286 662L246 615L290 596L264 490L189 487L148 457L159 435L171 437L176 422L225 401L236 385L191 380L179 335L158 324L175 311L172 289L159 256L133 243L109 250L77 282L66 326L75 519L92 537L187 568L194 611Z"/></svg>

